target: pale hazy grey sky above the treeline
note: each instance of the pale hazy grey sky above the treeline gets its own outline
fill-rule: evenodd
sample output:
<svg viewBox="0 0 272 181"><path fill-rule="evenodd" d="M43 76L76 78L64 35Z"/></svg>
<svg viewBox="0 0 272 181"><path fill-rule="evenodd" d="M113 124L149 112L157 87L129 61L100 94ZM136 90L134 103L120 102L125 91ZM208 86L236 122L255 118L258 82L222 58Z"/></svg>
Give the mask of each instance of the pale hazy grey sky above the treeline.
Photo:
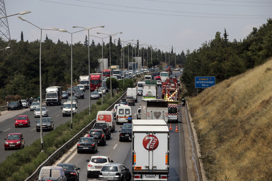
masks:
<svg viewBox="0 0 272 181"><path fill-rule="evenodd" d="M186 48L199 49L205 41L214 39L217 31L223 36L224 28L228 39L243 40L253 27L259 28L272 17L271 0L5 0L6 14L31 11L29 14L8 17L11 39L24 41L40 40L40 30L17 16L43 29L57 27L69 32L81 30L79 27L104 28L90 30L117 34L114 39L139 40L153 45L172 46L176 53ZM58 38L71 43L71 34L43 30L42 40L48 38L57 42ZM73 34L73 43L84 42L88 31ZM90 37L95 43L101 39ZM108 39L104 40L105 43ZM117 43L117 42L116 42ZM164 47L159 47L165 52ZM170 47L167 47L167 52Z"/></svg>

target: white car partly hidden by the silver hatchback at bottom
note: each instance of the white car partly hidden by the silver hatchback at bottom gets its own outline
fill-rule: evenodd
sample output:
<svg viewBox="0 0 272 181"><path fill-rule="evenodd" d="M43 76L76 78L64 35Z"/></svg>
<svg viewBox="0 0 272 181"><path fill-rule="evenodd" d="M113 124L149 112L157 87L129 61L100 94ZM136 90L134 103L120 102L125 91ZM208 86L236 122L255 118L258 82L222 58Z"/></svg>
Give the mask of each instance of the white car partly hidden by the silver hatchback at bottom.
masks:
<svg viewBox="0 0 272 181"><path fill-rule="evenodd" d="M108 156L92 155L90 160L86 160L86 162L89 162L87 166L87 178L90 178L92 175L99 175L102 167L113 161Z"/></svg>

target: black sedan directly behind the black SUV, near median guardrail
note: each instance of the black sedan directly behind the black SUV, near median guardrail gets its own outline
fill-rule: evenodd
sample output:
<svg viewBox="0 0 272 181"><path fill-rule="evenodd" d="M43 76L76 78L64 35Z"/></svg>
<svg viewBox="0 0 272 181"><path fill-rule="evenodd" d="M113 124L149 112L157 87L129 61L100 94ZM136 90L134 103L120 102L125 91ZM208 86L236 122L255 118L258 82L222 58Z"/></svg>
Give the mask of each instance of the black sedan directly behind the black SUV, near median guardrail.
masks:
<svg viewBox="0 0 272 181"><path fill-rule="evenodd" d="M97 148L98 144L95 138L82 137L77 143L77 153L80 153L80 151L92 151L93 153L96 153Z"/></svg>

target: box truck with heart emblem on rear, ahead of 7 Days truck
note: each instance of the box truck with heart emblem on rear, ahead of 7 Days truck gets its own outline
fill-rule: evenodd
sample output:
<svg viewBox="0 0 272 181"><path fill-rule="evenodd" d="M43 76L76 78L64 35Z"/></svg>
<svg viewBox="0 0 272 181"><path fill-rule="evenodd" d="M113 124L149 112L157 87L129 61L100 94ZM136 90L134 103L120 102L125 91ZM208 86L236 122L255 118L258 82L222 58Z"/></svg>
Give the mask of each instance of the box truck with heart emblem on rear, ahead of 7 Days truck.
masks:
<svg viewBox="0 0 272 181"><path fill-rule="evenodd" d="M163 119L168 121L168 101L162 99L142 99L141 119Z"/></svg>

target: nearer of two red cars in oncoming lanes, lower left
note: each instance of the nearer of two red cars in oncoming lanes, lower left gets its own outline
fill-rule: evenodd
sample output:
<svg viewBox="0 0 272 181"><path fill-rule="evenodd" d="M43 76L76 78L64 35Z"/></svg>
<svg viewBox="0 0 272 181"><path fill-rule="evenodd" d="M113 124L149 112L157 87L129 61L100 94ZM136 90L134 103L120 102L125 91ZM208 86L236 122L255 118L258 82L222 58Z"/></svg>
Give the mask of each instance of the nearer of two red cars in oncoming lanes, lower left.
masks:
<svg viewBox="0 0 272 181"><path fill-rule="evenodd" d="M10 148L24 148L24 137L22 133L10 133L7 138L4 138L5 141L5 150Z"/></svg>

